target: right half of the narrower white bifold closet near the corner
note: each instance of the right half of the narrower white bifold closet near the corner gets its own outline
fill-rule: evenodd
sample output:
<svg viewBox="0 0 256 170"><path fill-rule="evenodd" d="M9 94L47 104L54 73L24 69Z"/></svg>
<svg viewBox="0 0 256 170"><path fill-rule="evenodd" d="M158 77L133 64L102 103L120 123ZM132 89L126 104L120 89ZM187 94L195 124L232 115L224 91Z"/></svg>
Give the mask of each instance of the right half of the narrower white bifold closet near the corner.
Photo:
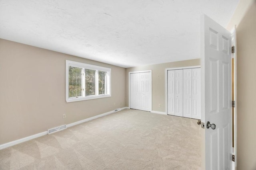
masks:
<svg viewBox="0 0 256 170"><path fill-rule="evenodd" d="M151 74L142 72L140 74L141 110L151 111Z"/></svg>

